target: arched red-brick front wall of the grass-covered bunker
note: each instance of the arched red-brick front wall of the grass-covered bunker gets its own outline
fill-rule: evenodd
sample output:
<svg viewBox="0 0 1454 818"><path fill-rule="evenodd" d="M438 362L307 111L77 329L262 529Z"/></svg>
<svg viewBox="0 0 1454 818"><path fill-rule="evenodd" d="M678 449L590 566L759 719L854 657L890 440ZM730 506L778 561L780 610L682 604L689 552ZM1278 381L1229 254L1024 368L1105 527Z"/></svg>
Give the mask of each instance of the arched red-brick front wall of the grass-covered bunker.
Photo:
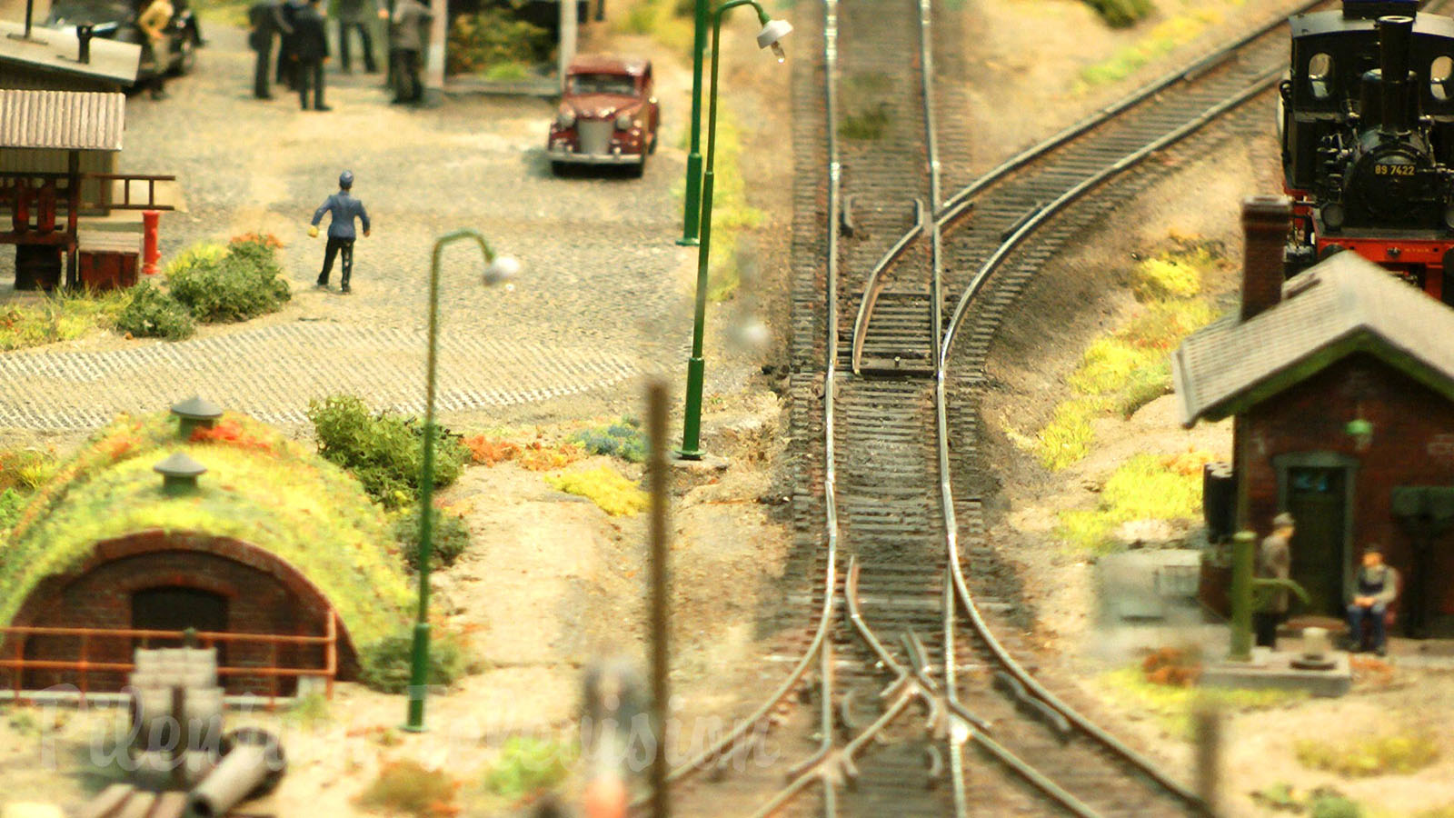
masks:
<svg viewBox="0 0 1454 818"><path fill-rule="evenodd" d="M202 533L148 530L102 540L80 566L42 579L26 597L12 624L42 627L132 627L137 592L185 588L215 595L225 605L227 630L285 636L321 636L332 610L327 597L291 563L243 540ZM80 640L74 636L29 636L26 659L76 661ZM128 639L92 639L89 662L131 662L137 643ZM233 642L224 648L227 667L272 664L272 646ZM279 645L279 667L324 667L321 645ZM13 655L13 645L4 648ZM337 623L337 678L358 677L358 654L342 620ZM9 680L4 680L7 683ZM25 687L79 684L74 671L25 674ZM125 674L90 672L89 690L121 690ZM224 680L228 693L270 691L263 675L233 675ZM281 694L294 690L292 680L278 680Z"/></svg>

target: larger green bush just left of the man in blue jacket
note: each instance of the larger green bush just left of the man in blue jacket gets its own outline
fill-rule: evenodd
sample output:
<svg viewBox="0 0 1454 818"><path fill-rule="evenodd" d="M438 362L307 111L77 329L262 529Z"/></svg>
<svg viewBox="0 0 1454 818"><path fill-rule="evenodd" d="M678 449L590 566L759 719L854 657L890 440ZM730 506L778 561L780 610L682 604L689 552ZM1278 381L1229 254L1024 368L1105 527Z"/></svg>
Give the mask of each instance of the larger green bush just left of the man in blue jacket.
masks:
<svg viewBox="0 0 1454 818"><path fill-rule="evenodd" d="M183 253L167 266L172 295L204 323L240 322L276 311L292 294L276 252L260 240Z"/></svg>

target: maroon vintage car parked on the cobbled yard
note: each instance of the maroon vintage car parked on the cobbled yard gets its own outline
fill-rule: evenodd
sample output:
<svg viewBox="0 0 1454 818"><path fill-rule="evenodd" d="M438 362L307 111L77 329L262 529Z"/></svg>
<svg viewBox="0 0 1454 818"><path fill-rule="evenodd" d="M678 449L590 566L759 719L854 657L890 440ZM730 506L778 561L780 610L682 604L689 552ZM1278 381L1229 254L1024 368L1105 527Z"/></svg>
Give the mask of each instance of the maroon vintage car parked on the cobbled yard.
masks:
<svg viewBox="0 0 1454 818"><path fill-rule="evenodd" d="M582 55L566 71L566 93L550 125L551 169L567 164L625 164L635 175L656 153L662 118L651 87L651 63L640 57Z"/></svg>

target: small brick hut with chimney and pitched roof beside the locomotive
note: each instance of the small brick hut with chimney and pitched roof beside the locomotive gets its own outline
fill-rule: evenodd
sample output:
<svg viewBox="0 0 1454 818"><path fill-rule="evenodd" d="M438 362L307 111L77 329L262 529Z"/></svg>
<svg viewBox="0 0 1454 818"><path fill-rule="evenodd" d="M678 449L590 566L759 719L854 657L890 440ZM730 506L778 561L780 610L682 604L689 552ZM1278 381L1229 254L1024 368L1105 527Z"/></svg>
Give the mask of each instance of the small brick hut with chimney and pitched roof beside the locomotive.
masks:
<svg viewBox="0 0 1454 818"><path fill-rule="evenodd" d="M1182 422L1234 418L1236 525L1293 514L1307 613L1341 614L1377 543L1425 635L1454 614L1454 310L1355 253L1284 282L1287 220L1285 199L1245 205L1242 309L1172 358Z"/></svg>

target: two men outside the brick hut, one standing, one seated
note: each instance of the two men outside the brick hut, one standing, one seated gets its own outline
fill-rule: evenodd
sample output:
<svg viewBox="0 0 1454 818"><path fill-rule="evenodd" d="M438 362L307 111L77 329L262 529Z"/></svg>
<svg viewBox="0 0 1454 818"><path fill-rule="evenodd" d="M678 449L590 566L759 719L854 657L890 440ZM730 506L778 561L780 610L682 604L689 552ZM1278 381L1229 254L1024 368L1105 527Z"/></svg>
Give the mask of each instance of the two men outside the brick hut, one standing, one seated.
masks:
<svg viewBox="0 0 1454 818"><path fill-rule="evenodd" d="M1293 568L1293 534L1297 523L1291 514L1282 512L1272 518L1272 533L1258 549L1256 575L1287 579ZM1362 565L1355 579L1354 598L1348 603L1348 649L1352 652L1373 651L1383 656L1389 651L1386 617L1389 605L1399 595L1399 572L1383 562L1383 550L1377 544L1364 547ZM1253 614L1258 645L1277 645L1277 627L1287 619L1287 588L1275 588L1265 604ZM1367 629L1364 626L1368 626Z"/></svg>

